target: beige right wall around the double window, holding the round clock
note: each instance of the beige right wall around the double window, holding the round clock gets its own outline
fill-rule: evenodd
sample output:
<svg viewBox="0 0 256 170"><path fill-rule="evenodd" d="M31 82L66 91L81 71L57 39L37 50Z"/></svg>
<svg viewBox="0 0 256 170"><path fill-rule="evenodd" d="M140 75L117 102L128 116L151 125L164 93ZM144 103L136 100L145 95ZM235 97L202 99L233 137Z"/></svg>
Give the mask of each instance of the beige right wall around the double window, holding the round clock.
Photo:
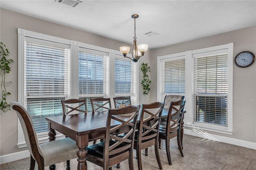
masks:
<svg viewBox="0 0 256 170"><path fill-rule="evenodd" d="M256 26L226 32L189 42L152 49L150 51L152 91L151 100L157 96L157 56L201 49L227 43L234 43L233 56L233 134L218 134L230 138L256 142L256 63L240 68L234 57L241 51L251 51L256 55Z"/></svg>

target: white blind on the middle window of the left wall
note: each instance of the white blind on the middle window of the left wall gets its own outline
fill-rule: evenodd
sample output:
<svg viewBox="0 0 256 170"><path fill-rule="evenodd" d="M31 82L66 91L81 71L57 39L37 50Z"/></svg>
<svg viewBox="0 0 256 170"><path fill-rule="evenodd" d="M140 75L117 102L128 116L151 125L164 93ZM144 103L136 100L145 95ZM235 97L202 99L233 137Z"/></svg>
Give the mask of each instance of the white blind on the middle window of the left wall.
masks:
<svg viewBox="0 0 256 170"><path fill-rule="evenodd" d="M79 98L86 99L88 111L92 111L91 97L109 97L108 67L108 53L80 48Z"/></svg>

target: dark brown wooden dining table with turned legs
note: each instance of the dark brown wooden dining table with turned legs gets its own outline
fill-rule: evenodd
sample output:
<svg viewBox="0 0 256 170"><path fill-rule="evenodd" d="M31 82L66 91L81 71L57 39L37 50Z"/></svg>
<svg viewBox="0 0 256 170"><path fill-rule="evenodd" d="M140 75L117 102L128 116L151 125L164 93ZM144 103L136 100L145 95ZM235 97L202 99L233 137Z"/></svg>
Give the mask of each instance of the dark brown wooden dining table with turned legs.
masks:
<svg viewBox="0 0 256 170"><path fill-rule="evenodd" d="M161 121L166 121L169 109L163 109ZM186 111L184 111L186 112ZM183 114L184 115L184 114ZM106 120L108 111L88 112L80 114L62 115L56 117L46 117L49 128L49 140L56 139L56 131L64 134L66 137L76 141L78 147L77 161L78 170L87 170L87 149L88 143L92 140L104 138L106 133ZM174 118L175 119L175 118ZM183 122L181 122L181 144L183 139ZM111 125L116 126L120 124L118 121L112 120ZM183 148L183 147L182 147Z"/></svg>

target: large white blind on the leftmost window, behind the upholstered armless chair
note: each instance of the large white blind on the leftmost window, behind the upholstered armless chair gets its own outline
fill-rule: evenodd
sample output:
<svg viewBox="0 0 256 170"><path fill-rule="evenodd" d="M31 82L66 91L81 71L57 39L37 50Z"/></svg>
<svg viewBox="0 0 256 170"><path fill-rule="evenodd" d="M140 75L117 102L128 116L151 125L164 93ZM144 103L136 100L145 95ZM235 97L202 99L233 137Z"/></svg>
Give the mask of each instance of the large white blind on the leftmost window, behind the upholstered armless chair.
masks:
<svg viewBox="0 0 256 170"><path fill-rule="evenodd" d="M69 95L69 45L26 38L24 103L36 132L48 131L45 117L62 115L60 100Z"/></svg>

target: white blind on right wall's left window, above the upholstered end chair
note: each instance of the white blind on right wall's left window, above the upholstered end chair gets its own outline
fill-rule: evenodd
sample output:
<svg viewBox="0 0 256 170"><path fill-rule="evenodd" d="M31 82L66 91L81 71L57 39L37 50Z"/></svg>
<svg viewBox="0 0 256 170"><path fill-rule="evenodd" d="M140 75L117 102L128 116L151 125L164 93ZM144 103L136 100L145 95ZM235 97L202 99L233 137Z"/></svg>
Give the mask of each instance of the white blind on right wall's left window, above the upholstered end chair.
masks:
<svg viewBox="0 0 256 170"><path fill-rule="evenodd" d="M161 62L160 94L161 101L168 94L185 94L185 59Z"/></svg>

